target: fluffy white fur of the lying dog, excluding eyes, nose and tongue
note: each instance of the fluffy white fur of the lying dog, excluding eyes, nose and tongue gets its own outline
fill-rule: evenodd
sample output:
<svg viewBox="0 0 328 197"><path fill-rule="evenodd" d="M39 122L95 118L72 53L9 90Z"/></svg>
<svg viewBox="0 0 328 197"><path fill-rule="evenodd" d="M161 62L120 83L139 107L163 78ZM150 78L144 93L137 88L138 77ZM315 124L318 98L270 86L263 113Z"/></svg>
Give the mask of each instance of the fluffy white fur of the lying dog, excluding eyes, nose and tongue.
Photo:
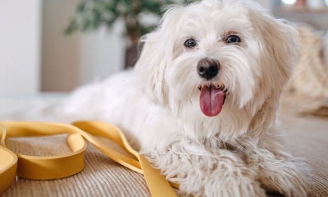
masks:
<svg viewBox="0 0 328 197"><path fill-rule="evenodd" d="M225 43L229 33L241 42ZM144 36L133 71L78 90L65 109L123 128L168 180L180 184L181 194L305 197L310 169L284 151L275 126L297 60L296 37L290 24L250 1L169 6L159 28ZM186 48L188 38L197 46ZM221 66L210 81L197 73L204 58ZM228 90L215 117L200 108L199 87L210 84Z"/></svg>

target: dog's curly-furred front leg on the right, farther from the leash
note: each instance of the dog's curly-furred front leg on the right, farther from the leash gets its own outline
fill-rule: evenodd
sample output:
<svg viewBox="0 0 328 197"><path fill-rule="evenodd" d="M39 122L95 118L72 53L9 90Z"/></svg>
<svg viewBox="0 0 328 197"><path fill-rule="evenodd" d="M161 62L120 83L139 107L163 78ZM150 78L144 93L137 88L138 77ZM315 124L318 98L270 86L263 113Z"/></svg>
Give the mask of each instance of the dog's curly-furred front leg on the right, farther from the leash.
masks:
<svg viewBox="0 0 328 197"><path fill-rule="evenodd" d="M306 197L309 192L311 168L304 159L284 151L279 135L263 136L255 151L258 157L258 180L267 191L286 197ZM263 143L264 142L264 143Z"/></svg>

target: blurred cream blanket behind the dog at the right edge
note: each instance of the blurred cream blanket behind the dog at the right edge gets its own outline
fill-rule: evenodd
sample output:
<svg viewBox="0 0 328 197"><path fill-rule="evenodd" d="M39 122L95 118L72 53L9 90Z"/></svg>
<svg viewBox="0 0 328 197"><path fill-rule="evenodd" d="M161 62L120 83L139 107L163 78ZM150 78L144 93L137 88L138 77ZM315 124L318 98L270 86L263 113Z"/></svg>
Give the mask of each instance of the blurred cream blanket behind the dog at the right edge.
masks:
<svg viewBox="0 0 328 197"><path fill-rule="evenodd" d="M282 107L298 114L328 116L328 62L324 57L328 46L310 27L299 26L298 32L299 63L286 87Z"/></svg>

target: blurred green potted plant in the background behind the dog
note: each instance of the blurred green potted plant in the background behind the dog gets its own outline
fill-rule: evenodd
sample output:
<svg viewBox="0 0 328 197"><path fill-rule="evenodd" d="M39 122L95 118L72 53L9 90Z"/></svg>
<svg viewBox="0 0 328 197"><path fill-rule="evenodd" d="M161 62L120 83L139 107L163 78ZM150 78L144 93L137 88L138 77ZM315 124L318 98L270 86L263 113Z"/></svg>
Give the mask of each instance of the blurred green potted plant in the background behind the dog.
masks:
<svg viewBox="0 0 328 197"><path fill-rule="evenodd" d="M144 23L142 15L153 15L152 17L156 18L162 14L161 10L165 4L172 3L176 2L174 0L81 0L65 33L95 30L100 26L112 28L116 21L122 20L126 37L126 68L133 66L137 61L140 36L149 33L157 25Z"/></svg>

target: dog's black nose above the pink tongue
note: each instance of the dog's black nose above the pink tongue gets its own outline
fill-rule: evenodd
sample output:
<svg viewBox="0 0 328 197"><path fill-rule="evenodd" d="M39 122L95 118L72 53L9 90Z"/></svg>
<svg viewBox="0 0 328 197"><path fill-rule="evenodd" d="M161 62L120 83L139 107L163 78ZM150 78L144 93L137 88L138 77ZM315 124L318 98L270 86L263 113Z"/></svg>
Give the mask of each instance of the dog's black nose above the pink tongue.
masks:
<svg viewBox="0 0 328 197"><path fill-rule="evenodd" d="M219 62L209 58L199 61L197 65L198 74L207 80L214 78L219 73L219 69Z"/></svg>

